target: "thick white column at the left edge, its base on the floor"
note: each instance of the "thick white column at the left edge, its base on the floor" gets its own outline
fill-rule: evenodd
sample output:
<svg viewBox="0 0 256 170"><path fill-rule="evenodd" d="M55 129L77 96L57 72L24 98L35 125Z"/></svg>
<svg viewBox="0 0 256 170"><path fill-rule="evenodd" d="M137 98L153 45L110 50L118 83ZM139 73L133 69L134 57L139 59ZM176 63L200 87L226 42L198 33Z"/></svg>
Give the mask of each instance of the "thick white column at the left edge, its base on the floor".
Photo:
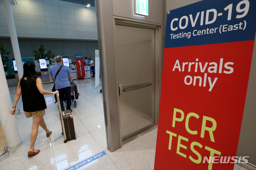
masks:
<svg viewBox="0 0 256 170"><path fill-rule="evenodd" d="M9 148L16 147L21 143L20 133L16 122L15 115L11 115L12 101L8 89L4 66L2 65L2 58L0 55L0 121L4 130L5 139Z"/></svg>

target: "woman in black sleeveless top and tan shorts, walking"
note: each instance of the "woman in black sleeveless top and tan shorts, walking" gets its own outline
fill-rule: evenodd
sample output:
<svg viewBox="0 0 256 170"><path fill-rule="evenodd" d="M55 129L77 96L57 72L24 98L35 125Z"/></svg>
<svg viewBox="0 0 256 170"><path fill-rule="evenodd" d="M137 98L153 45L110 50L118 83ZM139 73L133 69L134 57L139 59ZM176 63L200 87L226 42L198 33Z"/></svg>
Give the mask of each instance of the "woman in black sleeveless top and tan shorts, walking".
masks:
<svg viewBox="0 0 256 170"><path fill-rule="evenodd" d="M17 92L14 98L11 114L15 114L16 104L22 94L23 110L26 117L33 117L32 132L30 136L30 149L28 157L32 157L40 152L34 149L39 125L46 131L46 136L52 133L47 128L43 116L45 115L46 103L44 94L56 94L59 91L48 92L43 89L42 81L37 78L36 66L33 62L25 62L23 65L23 77L18 82Z"/></svg>

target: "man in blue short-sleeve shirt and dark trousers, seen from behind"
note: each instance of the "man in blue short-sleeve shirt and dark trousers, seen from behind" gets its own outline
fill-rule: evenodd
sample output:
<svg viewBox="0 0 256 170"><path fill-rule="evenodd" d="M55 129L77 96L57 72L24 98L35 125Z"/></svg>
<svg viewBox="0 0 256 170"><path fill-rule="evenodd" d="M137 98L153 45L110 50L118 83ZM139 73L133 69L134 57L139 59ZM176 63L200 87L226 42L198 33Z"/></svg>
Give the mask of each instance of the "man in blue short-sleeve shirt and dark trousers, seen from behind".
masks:
<svg viewBox="0 0 256 170"><path fill-rule="evenodd" d="M71 106L71 89L70 89L70 82L72 82L73 76L72 71L68 66L62 66L63 60L61 56L57 56L55 61L57 62L57 65L52 66L49 71L50 79L52 79L53 82L55 82L55 89L59 91L59 99L60 99L60 106L62 111L64 111L64 96L66 97L66 110L70 110ZM54 80L55 75L59 68L62 66L62 68L59 71L59 74L56 77L56 80ZM70 80L70 81L69 81Z"/></svg>

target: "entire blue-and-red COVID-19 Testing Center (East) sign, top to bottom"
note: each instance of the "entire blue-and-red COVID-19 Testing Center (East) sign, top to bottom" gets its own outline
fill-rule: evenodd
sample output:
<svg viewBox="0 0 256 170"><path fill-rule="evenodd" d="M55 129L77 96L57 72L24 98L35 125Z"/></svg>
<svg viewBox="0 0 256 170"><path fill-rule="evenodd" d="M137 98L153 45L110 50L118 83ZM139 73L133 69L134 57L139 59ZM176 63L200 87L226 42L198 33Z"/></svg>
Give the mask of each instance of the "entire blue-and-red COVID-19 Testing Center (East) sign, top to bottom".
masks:
<svg viewBox="0 0 256 170"><path fill-rule="evenodd" d="M167 12L155 170L233 170L255 7L203 0Z"/></svg>

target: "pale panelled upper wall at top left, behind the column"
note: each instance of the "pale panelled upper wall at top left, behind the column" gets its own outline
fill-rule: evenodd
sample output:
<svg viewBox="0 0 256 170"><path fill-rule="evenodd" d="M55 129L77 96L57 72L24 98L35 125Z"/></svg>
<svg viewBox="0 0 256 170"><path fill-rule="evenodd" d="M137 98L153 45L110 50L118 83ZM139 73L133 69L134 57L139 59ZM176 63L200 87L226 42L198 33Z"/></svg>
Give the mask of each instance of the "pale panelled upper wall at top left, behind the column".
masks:
<svg viewBox="0 0 256 170"><path fill-rule="evenodd" d="M95 7L61 0L17 0L17 4L12 11L18 37L97 40ZM4 26L0 37L10 36L3 4L0 19Z"/></svg>

